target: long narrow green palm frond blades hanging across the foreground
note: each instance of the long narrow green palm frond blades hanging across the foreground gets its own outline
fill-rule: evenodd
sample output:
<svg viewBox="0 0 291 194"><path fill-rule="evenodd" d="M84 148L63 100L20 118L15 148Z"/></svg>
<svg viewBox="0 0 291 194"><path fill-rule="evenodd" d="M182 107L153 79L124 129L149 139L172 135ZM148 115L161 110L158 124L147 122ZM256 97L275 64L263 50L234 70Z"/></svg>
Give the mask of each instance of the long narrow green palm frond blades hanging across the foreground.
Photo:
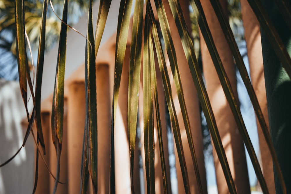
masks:
<svg viewBox="0 0 291 194"><path fill-rule="evenodd" d="M0 0L1 1L1 0ZM3 19L0 20L0 31L3 27L8 27L10 25L16 24L16 51L17 51L17 60L18 60L18 72L19 72L19 85L22 94L22 98L24 100L24 105L26 108L27 118L29 121L28 127L26 129L26 134L24 137L24 142L22 147L24 147L26 140L29 137L30 132L34 137L32 129L32 124L34 119L36 118L36 126L38 131L37 140L34 137L36 146L37 146L37 163L38 164L38 156L42 156L42 152L40 152L40 147L38 146L38 140L40 146L42 147L43 153L45 154L45 145L44 138L42 134L42 126L41 126L41 118L40 118L40 100L41 100L41 84L42 84L42 70L43 70L43 60L44 60L44 48L45 48L45 24L46 24L46 15L47 15L47 0L43 1L42 7L42 19L41 19L41 27L40 27L40 42L38 48L38 67L37 67L37 81L36 81L36 97L33 95L33 82L30 77L30 71L28 68L28 60L26 54L26 42L25 42L25 27L24 24L29 21L28 25L25 24L28 28L31 28L34 23L40 21L39 19L33 18L33 14L27 13L27 17L24 18L24 1L25 0L15 0L15 17L13 19ZM79 0L78 0L79 1ZM267 186L265 180L262 176L262 172L260 170L260 166L258 164L258 160L255 156L253 146L249 140L249 136L246 132L246 127L242 120L242 115L239 111L239 104L235 101L235 97L233 91L230 87L230 83L226 76L226 73L221 64L221 60L215 48L214 42L212 40L212 36L207 26L207 22L205 19L205 15L200 5L199 0L190 0L192 6L194 6L194 1L198 6L198 10L200 15L198 15L198 21L200 25L200 29L202 31L203 37L207 43L207 47L210 50L210 54L212 60L214 61L214 65L216 67L217 73L219 74L219 79L223 86L223 90L226 94L230 107L233 111L235 120L237 122L240 133L243 136L244 143L246 144L247 150L251 156L251 160L255 169L255 172L258 176L258 180L262 187L264 193L268 193ZM290 4L285 0L275 0L278 8L283 15L283 18L286 20L288 27L291 29L291 11ZM129 67L129 93L128 93L128 129L129 129L129 150L130 150L130 165L131 165L131 183L132 183L132 193L134 193L133 188L133 165L134 165L134 151L135 151L135 142L136 142L136 118L138 111L138 94L139 94L139 81L140 81L140 68L141 68L141 45L142 45L142 16L143 16L143 1L136 0L136 6L134 10L134 19L133 19L133 29L132 29L132 40L131 40L131 51L130 51L130 67ZM255 97L253 88L251 86L251 82L248 78L246 68L244 67L243 60L241 55L239 54L239 50L237 45L235 44L235 40L233 38L233 34L230 31L230 27L227 23L227 20L223 18L221 7L219 7L219 3L217 1L211 0L214 10L218 11L216 14L219 16L219 21L222 25L222 29L224 30L224 34L226 35L226 39L230 45L231 50L233 51L234 58L239 67L239 70L242 74L244 83L249 92L249 96L253 103L255 112L259 118L259 122L262 126L263 133L267 140L267 144L271 151L271 154L274 159L274 166L279 173L279 179L282 184L283 192L287 193L283 176L281 170L279 170L278 161L276 159L276 153L274 147L272 146L271 138L268 134L267 126L265 124L264 118L262 116L262 112L258 105L257 99ZM10 6L9 2L9 6ZM28 3L32 4L30 1ZM100 47L100 42L102 38L102 34L104 32L105 23L107 20L109 7L111 5L111 0L100 0L99 13L97 18L97 26L95 33L95 40L93 34L93 22L92 22L92 3L93 1L89 1L89 15L88 15L88 31L86 38L86 58L85 58L85 86L86 86L86 125L84 130L84 142L83 142L83 155L82 155L82 170L81 170L81 190L80 193L87 192L88 179L89 175L91 175L93 182L93 191L97 193L97 103L96 103L96 67L95 67L95 58L97 56L97 51ZM269 19L268 14L262 8L260 1L249 1L251 7L253 8L255 14L257 15L262 29L265 30L274 51L280 58L283 63L284 68L288 72L291 77L291 59L286 51L284 44L282 43L278 33ZM1 4L1 2L0 2ZM29 5L30 5L29 4ZM143 89L144 89L144 127L145 127L145 159L146 159L146 177L147 177L147 186L148 193L155 193L155 166L154 166L154 120L153 120L153 101L155 100L155 110L157 116L157 128L158 128L158 139L159 139L159 150L160 150L160 158L162 164L162 175L163 175L163 186L164 193L168 193L168 183L166 179L166 170L165 170L165 158L163 154L163 143L162 143L162 133L161 133L161 123L160 123L160 114L159 114L159 106L158 106L158 97L157 97L157 83L156 83L156 73L155 73L155 65L154 65L154 48L152 45L152 38L155 42L155 51L157 52L159 69L162 74L162 80L164 84L165 90L165 98L166 103L169 109L171 124L173 127L173 135L175 138L175 144L178 151L178 159L180 162L180 167L182 171L184 189L186 193L190 192L189 180L187 174L187 167L184 157L184 151L182 147L182 139L180 134L180 128L178 125L178 118L175 111L174 103L173 103L173 95L171 90L171 84L169 80L168 70L165 63L164 52L162 49L161 40L164 40L166 51L168 54L168 58L171 65L171 70L173 73L175 88L177 90L178 99L180 103L181 113L183 116L184 126L186 128L187 138L189 147L191 150L192 161L194 165L194 169L196 172L196 179L198 181L198 188L200 193L202 193L202 187L200 183L200 176L198 171L198 165L195 156L195 150L193 146L193 140L191 135L191 129L189 125L189 118L187 114L187 109L183 96L183 88L180 79L180 73L178 68L178 61L175 54L175 48L173 46L173 40L171 38L169 24L166 18L165 10L163 7L163 3L161 0L155 0L159 22L162 30L162 36L159 36L157 32L157 24L155 18L153 16L152 8L150 5L150 1L146 0L146 7L148 11L148 15L146 16L145 22L145 45L144 45L144 65L143 65ZM236 193L233 178L230 174L230 169L228 166L228 162L226 159L226 155L221 143L221 139L217 130L217 125L214 119L214 115L212 112L212 108L209 102L209 98L203 84L203 79L201 76L201 72L198 67L198 62L196 60L196 56L194 54L194 47L192 40L187 31L187 27L182 15L182 10L180 8L179 1L177 0L169 0L169 4L171 7L171 11L175 18L175 23L177 25L179 35L181 38L181 42L183 45L183 49L189 64L189 69L192 75L192 79L194 81L194 85L198 92L198 97L200 99L201 107L203 112L205 113L205 117L207 120L207 124L210 129L210 134L212 136L214 147L217 151L218 158L221 162L223 173L226 177L226 181L228 184L228 188L230 193ZM11 4L12 5L12 4ZM41 3L38 2L38 6ZM0 5L3 7L3 5ZM25 5L27 6L27 4ZM1 7L1 8L2 8ZM13 8L13 5L12 5ZM116 56L115 56L115 67L114 67L114 86L113 86L113 103L112 103L112 115L111 115L111 159L110 159L110 193L115 193L115 158L114 158L114 122L116 118L116 110L118 105L118 94L120 87L120 79L123 69L125 48L127 46L127 36L129 30L129 19L131 16L131 8L132 8L132 0L121 0L120 2L120 10L118 16L118 29L117 29L117 38L116 38ZM0 14L1 15L1 14ZM68 25L67 23L67 15L68 15L68 0L64 0L64 8L63 8L63 19L61 24L61 36L59 41L59 49L58 49L58 61L57 61L57 70L56 70L56 79L54 86L54 97L53 97L53 105L52 105L52 139L56 149L57 155L57 172L56 172L56 181L54 186L53 193L56 193L57 184L59 182L59 173L60 173L60 154L62 148L62 134L63 134L63 114L64 114L64 75L65 75L65 57L66 57L66 31ZM61 19L60 19L61 20ZM14 22L15 21L15 22ZM3 25L1 24L3 23ZM4 24L5 23L5 24ZM69 26L72 28L71 26ZM76 31L74 28L72 28ZM150 33L150 29L152 30L152 36ZM36 33L38 34L38 33ZM38 35L37 35L38 36ZM37 37L36 36L36 37ZM27 41L29 42L28 38ZM94 58L95 57L95 58ZM33 57L32 57L33 58ZM33 105L34 109L31 113L31 117L29 117L29 111L27 109L27 81L29 84L29 88L32 93ZM186 88L185 88L186 89ZM118 137L119 138L119 137ZM17 153L8 159L8 161L4 162L0 165L7 164L11 161L21 150L21 148L17 151ZM45 161L44 161L45 162ZM47 164L45 164L47 166ZM36 180L35 186L33 189L33 193L36 191L37 186L37 168L36 165ZM50 172L51 173L51 172ZM51 173L52 174L52 173ZM53 175L52 175L53 176ZM180 181L180 180L179 180Z"/></svg>

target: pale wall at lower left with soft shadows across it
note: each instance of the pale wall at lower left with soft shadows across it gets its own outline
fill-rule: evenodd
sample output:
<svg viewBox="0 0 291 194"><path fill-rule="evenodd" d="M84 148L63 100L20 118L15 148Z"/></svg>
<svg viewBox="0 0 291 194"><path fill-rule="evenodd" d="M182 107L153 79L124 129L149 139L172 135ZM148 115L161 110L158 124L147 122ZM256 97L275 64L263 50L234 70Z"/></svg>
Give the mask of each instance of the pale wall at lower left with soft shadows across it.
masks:
<svg viewBox="0 0 291 194"><path fill-rule="evenodd" d="M32 100L28 103L32 109ZM27 124L24 103L17 81L0 80L0 163L5 162L21 147ZM0 194L32 193L35 148L30 136L25 147L7 165L0 168Z"/></svg>

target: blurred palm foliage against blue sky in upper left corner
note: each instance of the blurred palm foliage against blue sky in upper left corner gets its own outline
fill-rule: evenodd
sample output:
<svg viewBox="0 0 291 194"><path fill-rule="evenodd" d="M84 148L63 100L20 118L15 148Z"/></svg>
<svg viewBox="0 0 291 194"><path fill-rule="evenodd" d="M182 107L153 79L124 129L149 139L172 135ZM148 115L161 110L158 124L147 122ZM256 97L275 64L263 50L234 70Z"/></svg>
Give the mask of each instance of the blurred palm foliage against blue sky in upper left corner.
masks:
<svg viewBox="0 0 291 194"><path fill-rule="evenodd" d="M33 53L38 49L42 4L43 0L25 0L25 29ZM87 11L88 5L88 1L85 0L70 0L68 4L68 24L77 23L79 18ZM54 0L53 6L56 14L61 17L63 0ZM0 78L6 80L18 79L14 9L14 1L0 0ZM46 50L51 49L54 43L57 42L60 30L61 21L48 5L45 37Z"/></svg>

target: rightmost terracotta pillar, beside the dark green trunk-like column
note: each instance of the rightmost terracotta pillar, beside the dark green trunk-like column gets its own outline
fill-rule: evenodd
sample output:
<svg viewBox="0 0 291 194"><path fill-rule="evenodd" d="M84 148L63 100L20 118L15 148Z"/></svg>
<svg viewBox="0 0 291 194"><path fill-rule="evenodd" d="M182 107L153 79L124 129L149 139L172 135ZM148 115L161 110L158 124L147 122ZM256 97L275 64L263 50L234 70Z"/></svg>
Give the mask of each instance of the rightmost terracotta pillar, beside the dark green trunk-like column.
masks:
<svg viewBox="0 0 291 194"><path fill-rule="evenodd" d="M246 39L246 47L249 58L251 80L253 88L257 95L262 113L264 115L267 126L268 122L268 110L267 110L267 98L265 89L265 77L262 57L262 45L261 45L261 33L260 24L256 18L253 10L246 0L241 0L242 5L242 20L244 22L244 34ZM265 141L262 128L257 120L258 136L260 145L260 155L262 159L263 174L270 193L275 193L274 185L274 173L272 156Z"/></svg>

